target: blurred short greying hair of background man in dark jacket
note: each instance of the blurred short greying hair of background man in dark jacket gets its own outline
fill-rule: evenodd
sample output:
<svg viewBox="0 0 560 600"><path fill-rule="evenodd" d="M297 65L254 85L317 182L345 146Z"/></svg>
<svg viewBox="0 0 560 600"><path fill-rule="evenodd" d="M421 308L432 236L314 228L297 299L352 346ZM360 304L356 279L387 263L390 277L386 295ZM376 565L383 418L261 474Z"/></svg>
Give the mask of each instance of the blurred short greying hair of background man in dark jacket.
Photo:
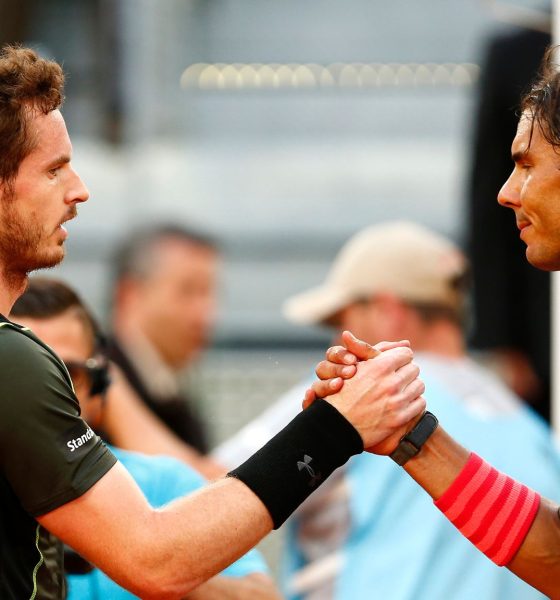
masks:
<svg viewBox="0 0 560 600"><path fill-rule="evenodd" d="M179 240L217 252L216 241L196 229L174 224L161 224L134 232L115 252L114 283L125 277L144 278L151 273L154 250L165 240Z"/></svg>

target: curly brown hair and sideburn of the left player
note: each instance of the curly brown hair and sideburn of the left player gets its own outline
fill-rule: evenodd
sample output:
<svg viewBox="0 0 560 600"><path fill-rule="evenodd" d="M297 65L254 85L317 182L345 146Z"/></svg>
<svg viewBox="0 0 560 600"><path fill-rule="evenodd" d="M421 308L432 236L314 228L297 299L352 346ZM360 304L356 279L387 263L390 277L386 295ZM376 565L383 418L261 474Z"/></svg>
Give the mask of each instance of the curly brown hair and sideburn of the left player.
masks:
<svg viewBox="0 0 560 600"><path fill-rule="evenodd" d="M33 150L29 110L44 114L64 100L64 73L30 48L0 49L0 182L11 187L21 162Z"/></svg>

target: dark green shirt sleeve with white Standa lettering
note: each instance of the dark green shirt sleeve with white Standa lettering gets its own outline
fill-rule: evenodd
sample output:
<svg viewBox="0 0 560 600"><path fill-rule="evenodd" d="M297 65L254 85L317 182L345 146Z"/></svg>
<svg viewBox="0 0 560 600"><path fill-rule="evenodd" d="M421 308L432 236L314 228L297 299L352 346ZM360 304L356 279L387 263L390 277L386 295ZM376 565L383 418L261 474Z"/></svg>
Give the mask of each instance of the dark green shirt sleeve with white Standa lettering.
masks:
<svg viewBox="0 0 560 600"><path fill-rule="evenodd" d="M0 467L23 508L35 517L74 500L115 462L81 419L56 355L0 327Z"/></svg>

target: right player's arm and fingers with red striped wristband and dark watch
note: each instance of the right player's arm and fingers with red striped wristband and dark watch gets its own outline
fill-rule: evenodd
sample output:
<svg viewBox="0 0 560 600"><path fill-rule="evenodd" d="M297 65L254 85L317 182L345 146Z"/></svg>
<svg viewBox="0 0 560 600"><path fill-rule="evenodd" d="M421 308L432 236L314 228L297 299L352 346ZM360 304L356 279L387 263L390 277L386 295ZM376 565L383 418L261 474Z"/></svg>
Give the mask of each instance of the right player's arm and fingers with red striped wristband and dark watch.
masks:
<svg viewBox="0 0 560 600"><path fill-rule="evenodd" d="M342 346L317 365L320 378L306 393L308 406L340 389L348 353L367 360L377 351L349 332ZM344 376L349 379L348 375ZM522 443L522 440L520 440ZM507 448L504 448L507 451ZM550 598L560 599L559 506L541 498L449 436L429 412L416 421L389 456L421 486L434 504L481 552L506 566Z"/></svg>

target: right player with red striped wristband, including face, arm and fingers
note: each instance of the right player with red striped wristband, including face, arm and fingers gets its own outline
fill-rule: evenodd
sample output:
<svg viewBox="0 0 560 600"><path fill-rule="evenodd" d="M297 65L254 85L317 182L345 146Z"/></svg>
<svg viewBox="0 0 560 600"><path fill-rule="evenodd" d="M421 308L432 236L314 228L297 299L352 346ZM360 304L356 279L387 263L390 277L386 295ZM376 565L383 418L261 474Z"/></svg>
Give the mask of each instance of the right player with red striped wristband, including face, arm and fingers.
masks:
<svg viewBox="0 0 560 600"><path fill-rule="evenodd" d="M544 271L560 271L560 69L558 48L550 49L541 74L521 101L521 118L513 140L513 171L498 202L513 210L527 260ZM506 308L506 307L504 307ZM327 351L317 367L323 381L306 393L304 406L343 385L341 365L348 352L363 360L375 351L351 336L345 346ZM539 495L472 455L441 426L414 429L399 446L414 455L404 470L434 498L436 506L477 548L498 565L550 598L560 599L560 514L558 504ZM519 440L523 444L523 440ZM393 448L396 451L398 448ZM415 450L415 452L414 452ZM507 452L504 448L504 452ZM402 456L402 452L400 453ZM436 576L432 574L432 576Z"/></svg>

